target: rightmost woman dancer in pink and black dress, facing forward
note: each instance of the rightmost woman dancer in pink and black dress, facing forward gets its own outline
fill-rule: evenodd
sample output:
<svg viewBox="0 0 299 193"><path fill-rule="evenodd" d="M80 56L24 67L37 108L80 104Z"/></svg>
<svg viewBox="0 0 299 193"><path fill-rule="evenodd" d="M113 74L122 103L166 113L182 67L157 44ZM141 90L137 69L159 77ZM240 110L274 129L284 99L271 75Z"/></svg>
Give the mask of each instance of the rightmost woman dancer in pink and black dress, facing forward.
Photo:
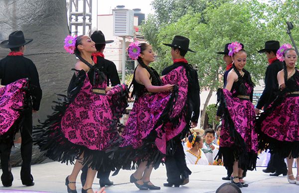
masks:
<svg viewBox="0 0 299 193"><path fill-rule="evenodd" d="M291 184L299 185L299 71L295 67L297 54L290 44L277 51L284 69L277 74L281 93L261 114L257 121L259 148L270 149L287 158ZM293 162L297 158L297 177L293 175Z"/></svg>

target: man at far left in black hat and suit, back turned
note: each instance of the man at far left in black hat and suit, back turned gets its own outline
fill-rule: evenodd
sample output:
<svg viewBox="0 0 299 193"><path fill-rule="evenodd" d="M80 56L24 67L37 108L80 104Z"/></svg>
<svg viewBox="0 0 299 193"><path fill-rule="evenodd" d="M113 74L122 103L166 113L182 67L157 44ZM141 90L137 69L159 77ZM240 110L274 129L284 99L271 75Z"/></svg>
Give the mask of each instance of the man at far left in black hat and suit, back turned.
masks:
<svg viewBox="0 0 299 193"><path fill-rule="evenodd" d="M22 78L29 78L29 92L26 97L32 100L32 105L26 108L21 117L21 181L25 186L33 186L33 177L31 175L31 156L32 156L32 112L39 110L42 91L39 85L39 78L34 63L23 56L25 45L33 39L25 39L22 31L14 31L9 35L8 40L1 42L2 48L9 48L11 52L0 60L0 79L1 85L8 85ZM13 176L11 174L11 166L9 155L13 145L14 131L17 126L10 128L11 132L7 132L0 137L0 158L2 167L1 181L4 187L12 185Z"/></svg>

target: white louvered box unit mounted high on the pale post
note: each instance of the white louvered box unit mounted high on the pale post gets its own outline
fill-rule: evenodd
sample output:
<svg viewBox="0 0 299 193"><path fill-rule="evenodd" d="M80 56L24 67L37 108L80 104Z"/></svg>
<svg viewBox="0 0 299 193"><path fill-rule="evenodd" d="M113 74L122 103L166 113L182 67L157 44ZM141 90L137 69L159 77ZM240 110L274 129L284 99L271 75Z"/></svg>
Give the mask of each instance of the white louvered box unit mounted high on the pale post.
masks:
<svg viewBox="0 0 299 193"><path fill-rule="evenodd" d="M113 9L113 35L134 36L134 12L131 9Z"/></svg>

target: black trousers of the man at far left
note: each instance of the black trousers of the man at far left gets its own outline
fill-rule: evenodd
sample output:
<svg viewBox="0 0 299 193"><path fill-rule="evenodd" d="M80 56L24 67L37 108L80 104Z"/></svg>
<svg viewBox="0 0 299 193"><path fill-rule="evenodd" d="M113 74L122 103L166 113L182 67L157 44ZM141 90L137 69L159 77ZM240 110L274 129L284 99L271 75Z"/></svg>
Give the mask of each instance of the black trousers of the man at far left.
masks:
<svg viewBox="0 0 299 193"><path fill-rule="evenodd" d="M23 185L33 182L31 175L31 157L32 157L32 109L27 109L22 112L21 117L23 120L20 124L21 132L21 181ZM1 136L0 140L0 159L2 167L1 181L2 184L10 184L13 181L10 166L10 152L13 146L14 131L17 125L13 125L7 133Z"/></svg>

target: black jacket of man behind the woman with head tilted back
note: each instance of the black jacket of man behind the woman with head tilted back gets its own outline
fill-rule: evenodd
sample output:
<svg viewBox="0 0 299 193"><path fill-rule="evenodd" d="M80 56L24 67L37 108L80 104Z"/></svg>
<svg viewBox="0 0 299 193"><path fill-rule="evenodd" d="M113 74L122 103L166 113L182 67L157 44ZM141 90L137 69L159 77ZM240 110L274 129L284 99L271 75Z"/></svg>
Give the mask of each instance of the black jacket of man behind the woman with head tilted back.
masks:
<svg viewBox="0 0 299 193"><path fill-rule="evenodd" d="M116 66L112 61L97 56L97 64L95 64L95 66L99 70L103 71L107 76L108 86L109 86L109 82L111 82L111 86L116 86L118 84L121 84L120 78L118 76L118 72L116 70Z"/></svg>

